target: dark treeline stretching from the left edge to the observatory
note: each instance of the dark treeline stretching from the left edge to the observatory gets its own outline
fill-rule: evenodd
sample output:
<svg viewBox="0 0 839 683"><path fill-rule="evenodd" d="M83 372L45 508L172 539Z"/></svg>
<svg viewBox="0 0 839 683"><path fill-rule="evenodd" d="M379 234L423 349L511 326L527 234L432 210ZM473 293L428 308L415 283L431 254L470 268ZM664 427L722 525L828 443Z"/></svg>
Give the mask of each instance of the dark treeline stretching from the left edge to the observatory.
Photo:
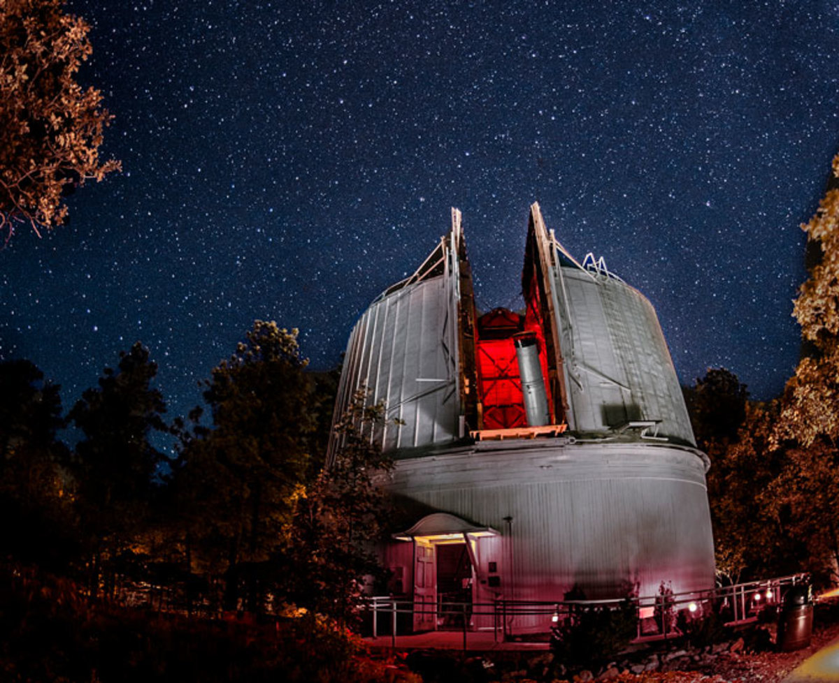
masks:
<svg viewBox="0 0 839 683"><path fill-rule="evenodd" d="M66 413L35 365L0 363L0 505L17 520L0 530L7 561L67 577L91 601L352 620L378 572L367 541L385 507L370 473L389 463L347 419L323 471L337 372L305 365L296 332L257 321L204 382L205 406L167 420L142 344ZM175 457L154 447L161 432Z"/></svg>

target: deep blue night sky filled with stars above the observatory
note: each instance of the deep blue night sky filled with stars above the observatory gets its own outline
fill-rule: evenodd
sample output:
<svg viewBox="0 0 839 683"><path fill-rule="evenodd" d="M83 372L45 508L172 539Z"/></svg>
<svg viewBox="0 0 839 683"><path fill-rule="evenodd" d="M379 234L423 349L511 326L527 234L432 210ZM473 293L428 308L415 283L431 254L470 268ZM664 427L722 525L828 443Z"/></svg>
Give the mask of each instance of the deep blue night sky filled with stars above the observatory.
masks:
<svg viewBox="0 0 839 683"><path fill-rule="evenodd" d="M680 379L795 368L804 233L839 147L834 3L71 0L123 173L0 252L0 358L65 407L136 340L172 415L254 318L316 369L463 212L519 308L529 204L659 313Z"/></svg>

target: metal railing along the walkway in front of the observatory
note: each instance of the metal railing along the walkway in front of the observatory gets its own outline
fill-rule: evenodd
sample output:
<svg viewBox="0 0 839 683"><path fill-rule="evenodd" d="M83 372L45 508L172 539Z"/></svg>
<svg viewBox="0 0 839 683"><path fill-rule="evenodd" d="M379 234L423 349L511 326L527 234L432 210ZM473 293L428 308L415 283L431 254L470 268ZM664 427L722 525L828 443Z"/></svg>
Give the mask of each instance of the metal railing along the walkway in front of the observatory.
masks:
<svg viewBox="0 0 839 683"><path fill-rule="evenodd" d="M547 634L551 629L573 624L579 614L586 610L616 610L627 604L636 610L638 630L633 642L674 638L681 635L676 615L687 611L701 618L711 612L717 613L726 625L750 623L766 608L779 604L786 588L809 581L807 574L791 574L762 581L737 583L732 586L712 588L705 591L674 593L662 589L659 594L642 598L610 600L563 600L527 601L498 598L492 603L444 602L414 603L413 600L390 596L365 598L365 608L371 614L373 639L383 635L385 623L387 636L396 644L396 637L413 629L399 629L399 615L420 617L421 622L431 620L435 627L445 630L459 630L463 634L463 649L466 649L467 634L474 630L473 624L483 624L481 630L492 630L496 642L509 639L514 634ZM408 617L404 617L407 620ZM525 622L524 628L514 628L515 623ZM487 625L491 624L491 625ZM452 628L456 627L456 628Z"/></svg>

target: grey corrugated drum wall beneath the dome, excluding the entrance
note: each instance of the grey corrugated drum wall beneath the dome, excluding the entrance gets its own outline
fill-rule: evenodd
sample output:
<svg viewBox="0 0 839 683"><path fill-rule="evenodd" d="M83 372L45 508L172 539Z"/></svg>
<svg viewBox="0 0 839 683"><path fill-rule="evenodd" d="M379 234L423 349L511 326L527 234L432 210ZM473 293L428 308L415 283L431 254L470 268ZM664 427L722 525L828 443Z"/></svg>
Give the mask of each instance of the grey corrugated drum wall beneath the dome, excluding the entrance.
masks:
<svg viewBox="0 0 839 683"><path fill-rule="evenodd" d="M391 489L500 530L513 544L508 598L513 583L531 600L575 585L613 598L635 584L641 595L714 584L705 463L686 448L508 443L399 461Z"/></svg>

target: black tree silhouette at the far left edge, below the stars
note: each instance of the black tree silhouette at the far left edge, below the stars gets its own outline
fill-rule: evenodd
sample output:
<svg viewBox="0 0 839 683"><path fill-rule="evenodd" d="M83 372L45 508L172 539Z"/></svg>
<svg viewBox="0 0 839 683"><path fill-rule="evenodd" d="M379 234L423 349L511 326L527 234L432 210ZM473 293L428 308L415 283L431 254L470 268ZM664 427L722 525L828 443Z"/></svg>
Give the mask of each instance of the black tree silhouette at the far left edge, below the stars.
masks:
<svg viewBox="0 0 839 683"><path fill-rule="evenodd" d="M0 513L17 520L0 539L18 559L54 566L74 551L59 391L29 360L0 362Z"/></svg>

